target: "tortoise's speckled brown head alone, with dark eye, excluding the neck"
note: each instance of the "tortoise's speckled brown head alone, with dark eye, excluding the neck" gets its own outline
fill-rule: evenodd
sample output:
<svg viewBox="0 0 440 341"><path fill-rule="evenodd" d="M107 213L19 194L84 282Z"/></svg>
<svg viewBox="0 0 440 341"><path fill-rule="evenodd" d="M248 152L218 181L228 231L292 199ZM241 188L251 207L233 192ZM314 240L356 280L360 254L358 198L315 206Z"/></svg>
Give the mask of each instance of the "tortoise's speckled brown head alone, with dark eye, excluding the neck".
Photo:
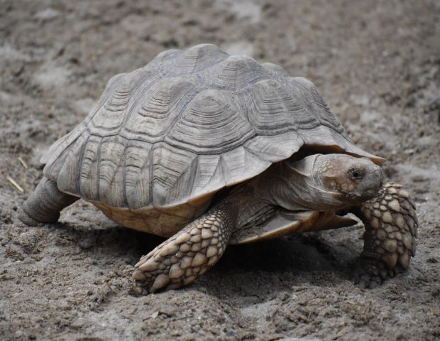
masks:
<svg viewBox="0 0 440 341"><path fill-rule="evenodd" d="M348 205L369 200L378 194L383 183L380 166L368 158L346 154L326 154L316 158L313 176L324 190L335 193Z"/></svg>

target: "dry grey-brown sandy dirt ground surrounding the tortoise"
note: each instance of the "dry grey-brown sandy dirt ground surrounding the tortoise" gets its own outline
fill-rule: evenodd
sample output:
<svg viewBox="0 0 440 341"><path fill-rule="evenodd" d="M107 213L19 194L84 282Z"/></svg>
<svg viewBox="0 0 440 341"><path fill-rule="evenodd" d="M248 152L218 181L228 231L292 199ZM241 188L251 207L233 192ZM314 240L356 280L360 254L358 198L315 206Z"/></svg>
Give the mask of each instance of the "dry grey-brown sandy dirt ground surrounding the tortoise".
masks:
<svg viewBox="0 0 440 341"><path fill-rule="evenodd" d="M133 264L158 237L82 200L57 224L18 221L40 156L112 75L197 43L309 78L387 158L417 203L409 271L354 285L351 227L229 247L191 286L143 296ZM0 0L0 72L1 340L439 340L439 1Z"/></svg>

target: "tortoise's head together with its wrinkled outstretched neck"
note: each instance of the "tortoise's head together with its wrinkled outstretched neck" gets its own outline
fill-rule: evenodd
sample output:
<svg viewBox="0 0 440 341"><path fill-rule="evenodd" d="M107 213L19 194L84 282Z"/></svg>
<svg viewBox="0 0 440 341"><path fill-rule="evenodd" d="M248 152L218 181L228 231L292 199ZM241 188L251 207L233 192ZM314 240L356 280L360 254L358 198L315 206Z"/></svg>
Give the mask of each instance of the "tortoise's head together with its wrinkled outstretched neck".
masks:
<svg viewBox="0 0 440 341"><path fill-rule="evenodd" d="M273 204L286 210L340 210L378 195L383 172L368 158L313 154L274 170L279 181L266 183Z"/></svg>

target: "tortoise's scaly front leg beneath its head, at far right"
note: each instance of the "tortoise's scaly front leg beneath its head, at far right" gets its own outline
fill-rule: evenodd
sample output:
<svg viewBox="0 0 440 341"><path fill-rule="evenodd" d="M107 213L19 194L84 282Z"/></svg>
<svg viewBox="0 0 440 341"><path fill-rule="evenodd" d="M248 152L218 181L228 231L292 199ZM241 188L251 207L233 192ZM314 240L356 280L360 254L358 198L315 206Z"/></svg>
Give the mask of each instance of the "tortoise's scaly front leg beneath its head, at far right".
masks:
<svg viewBox="0 0 440 341"><path fill-rule="evenodd" d="M417 214L402 185L386 183L379 195L360 207L365 224L362 270L356 281L364 288L380 285L407 269L416 251Z"/></svg>

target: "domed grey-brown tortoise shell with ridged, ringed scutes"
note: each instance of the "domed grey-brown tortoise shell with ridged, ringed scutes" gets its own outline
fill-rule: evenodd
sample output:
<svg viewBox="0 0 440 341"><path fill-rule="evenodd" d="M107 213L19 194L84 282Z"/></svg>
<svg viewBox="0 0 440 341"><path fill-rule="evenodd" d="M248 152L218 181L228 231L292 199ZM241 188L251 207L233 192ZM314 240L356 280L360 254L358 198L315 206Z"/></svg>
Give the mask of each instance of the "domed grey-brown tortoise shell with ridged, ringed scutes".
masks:
<svg viewBox="0 0 440 341"><path fill-rule="evenodd" d="M302 146L382 161L351 143L309 80L204 44L112 77L42 162L63 192L168 237L207 210L214 193Z"/></svg>

